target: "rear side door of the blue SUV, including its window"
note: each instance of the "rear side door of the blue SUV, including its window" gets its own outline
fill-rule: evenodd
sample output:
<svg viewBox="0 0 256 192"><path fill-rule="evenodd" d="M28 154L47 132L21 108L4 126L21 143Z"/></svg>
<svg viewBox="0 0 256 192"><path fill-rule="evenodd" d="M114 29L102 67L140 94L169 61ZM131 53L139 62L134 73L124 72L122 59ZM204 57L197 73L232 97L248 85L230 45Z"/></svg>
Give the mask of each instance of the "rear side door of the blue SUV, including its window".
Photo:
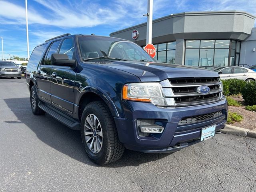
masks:
<svg viewBox="0 0 256 192"><path fill-rule="evenodd" d="M38 66L36 81L38 85L38 96L40 100L51 104L51 89L50 89L50 75L52 71L51 56L56 53L60 40L54 41L50 44L46 51L44 60Z"/></svg>

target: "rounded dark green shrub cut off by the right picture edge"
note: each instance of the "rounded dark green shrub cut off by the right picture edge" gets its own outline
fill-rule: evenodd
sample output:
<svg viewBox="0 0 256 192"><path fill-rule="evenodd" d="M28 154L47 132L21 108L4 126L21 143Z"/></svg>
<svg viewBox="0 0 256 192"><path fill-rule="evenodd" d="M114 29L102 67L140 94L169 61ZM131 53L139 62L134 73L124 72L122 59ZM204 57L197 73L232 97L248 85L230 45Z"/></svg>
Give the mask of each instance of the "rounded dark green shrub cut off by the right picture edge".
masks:
<svg viewBox="0 0 256 192"><path fill-rule="evenodd" d="M246 82L242 89L242 96L246 104L250 106L256 105L256 81Z"/></svg>

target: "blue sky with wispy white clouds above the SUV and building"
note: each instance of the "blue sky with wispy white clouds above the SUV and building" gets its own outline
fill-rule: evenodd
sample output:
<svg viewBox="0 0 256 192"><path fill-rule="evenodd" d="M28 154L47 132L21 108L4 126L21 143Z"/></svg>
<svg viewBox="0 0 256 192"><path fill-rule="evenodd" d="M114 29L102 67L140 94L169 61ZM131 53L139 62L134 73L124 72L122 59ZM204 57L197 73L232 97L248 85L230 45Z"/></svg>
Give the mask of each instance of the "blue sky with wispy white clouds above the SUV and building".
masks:
<svg viewBox="0 0 256 192"><path fill-rule="evenodd" d="M154 0L153 19L218 10L240 10L256 16L256 0ZM30 53L37 44L64 33L109 36L146 22L142 16L146 12L147 0L28 0ZM4 58L9 54L27 57L25 0L0 0L0 36L4 38Z"/></svg>

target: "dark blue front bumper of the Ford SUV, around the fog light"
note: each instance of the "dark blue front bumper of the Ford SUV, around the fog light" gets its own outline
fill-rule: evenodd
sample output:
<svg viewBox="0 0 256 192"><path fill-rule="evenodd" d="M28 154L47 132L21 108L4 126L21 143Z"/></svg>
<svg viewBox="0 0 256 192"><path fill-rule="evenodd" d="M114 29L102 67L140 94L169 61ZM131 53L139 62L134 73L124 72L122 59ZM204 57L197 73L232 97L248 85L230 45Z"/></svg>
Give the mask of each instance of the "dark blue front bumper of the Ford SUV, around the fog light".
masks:
<svg viewBox="0 0 256 192"><path fill-rule="evenodd" d="M220 102L190 107L158 108L151 103L123 101L125 118L114 118L118 137L126 148L146 153L174 152L200 142L201 130L216 124L216 131L226 125L228 105L226 99ZM178 122L189 116L199 116L222 111L217 118L200 121L188 125L178 125ZM136 120L154 119L164 127L162 134L140 136Z"/></svg>

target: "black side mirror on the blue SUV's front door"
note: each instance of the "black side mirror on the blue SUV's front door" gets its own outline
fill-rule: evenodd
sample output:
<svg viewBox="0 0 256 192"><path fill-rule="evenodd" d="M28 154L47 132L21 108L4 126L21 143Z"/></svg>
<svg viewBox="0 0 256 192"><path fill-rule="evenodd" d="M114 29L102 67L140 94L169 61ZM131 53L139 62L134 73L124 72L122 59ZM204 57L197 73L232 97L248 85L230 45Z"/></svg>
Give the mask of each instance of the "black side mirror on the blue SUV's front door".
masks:
<svg viewBox="0 0 256 192"><path fill-rule="evenodd" d="M59 53L52 54L51 61L52 61L52 65L68 66L68 67L73 67L74 64L76 63L76 60L69 59L67 54L59 54Z"/></svg>

